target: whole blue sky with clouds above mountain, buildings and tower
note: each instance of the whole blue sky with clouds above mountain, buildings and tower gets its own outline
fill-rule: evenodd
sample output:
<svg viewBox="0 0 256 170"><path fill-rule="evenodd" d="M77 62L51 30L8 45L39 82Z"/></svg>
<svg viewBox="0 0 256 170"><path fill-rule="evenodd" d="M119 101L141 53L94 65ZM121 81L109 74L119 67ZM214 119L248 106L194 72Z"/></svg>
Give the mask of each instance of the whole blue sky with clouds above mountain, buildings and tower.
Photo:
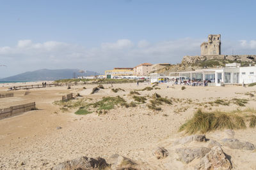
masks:
<svg viewBox="0 0 256 170"><path fill-rule="evenodd" d="M1 0L0 78L37 69L180 63L209 34L221 54L256 54L256 1ZM5 65L5 66L1 66Z"/></svg>

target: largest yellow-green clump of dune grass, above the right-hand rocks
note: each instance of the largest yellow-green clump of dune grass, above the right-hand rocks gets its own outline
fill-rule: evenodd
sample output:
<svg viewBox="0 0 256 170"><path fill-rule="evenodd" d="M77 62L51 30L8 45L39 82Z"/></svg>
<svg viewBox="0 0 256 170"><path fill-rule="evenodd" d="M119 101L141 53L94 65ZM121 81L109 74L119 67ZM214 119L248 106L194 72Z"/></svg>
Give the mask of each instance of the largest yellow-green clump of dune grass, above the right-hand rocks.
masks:
<svg viewBox="0 0 256 170"><path fill-rule="evenodd" d="M246 110L244 110L244 112L245 111ZM238 113L237 111L227 113L221 111L205 112L197 110L190 120L180 126L179 131L185 131L188 134L195 134L196 132L205 133L220 129L244 129L246 128L246 124L244 122L246 117L242 117L241 115L243 114L241 114L241 112ZM249 126L255 127L256 116L250 115L249 117Z"/></svg>

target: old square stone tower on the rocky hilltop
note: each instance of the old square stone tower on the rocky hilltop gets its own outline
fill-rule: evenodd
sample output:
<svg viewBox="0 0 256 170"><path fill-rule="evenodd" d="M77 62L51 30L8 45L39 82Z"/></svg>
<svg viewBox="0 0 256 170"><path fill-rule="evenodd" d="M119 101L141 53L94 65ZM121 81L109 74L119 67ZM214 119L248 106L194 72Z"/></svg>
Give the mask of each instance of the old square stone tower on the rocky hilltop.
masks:
<svg viewBox="0 0 256 170"><path fill-rule="evenodd" d="M220 55L221 54L221 41L220 34L209 35L208 41L201 45L201 55Z"/></svg>

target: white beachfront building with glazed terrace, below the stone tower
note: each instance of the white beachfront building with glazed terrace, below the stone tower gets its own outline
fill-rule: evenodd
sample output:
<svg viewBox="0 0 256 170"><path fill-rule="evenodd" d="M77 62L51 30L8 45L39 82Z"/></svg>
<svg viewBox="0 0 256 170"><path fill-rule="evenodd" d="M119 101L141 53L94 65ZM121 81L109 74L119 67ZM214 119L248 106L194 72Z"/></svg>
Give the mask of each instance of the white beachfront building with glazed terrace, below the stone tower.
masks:
<svg viewBox="0 0 256 170"><path fill-rule="evenodd" d="M249 84L256 82L256 66L240 67L241 64L226 64L223 68L199 69L170 73L170 76L187 77L189 80L209 82L209 85Z"/></svg>

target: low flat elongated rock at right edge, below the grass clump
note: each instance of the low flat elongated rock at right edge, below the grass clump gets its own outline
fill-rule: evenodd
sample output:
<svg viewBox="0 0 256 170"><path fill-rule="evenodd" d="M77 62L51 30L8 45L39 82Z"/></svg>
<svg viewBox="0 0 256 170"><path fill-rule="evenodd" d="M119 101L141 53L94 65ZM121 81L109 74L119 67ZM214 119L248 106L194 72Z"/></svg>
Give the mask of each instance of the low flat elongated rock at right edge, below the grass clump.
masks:
<svg viewBox="0 0 256 170"><path fill-rule="evenodd" d="M255 150L255 146L252 143L241 142L238 139L222 139L221 144L228 146L231 149L240 149L240 150Z"/></svg>

